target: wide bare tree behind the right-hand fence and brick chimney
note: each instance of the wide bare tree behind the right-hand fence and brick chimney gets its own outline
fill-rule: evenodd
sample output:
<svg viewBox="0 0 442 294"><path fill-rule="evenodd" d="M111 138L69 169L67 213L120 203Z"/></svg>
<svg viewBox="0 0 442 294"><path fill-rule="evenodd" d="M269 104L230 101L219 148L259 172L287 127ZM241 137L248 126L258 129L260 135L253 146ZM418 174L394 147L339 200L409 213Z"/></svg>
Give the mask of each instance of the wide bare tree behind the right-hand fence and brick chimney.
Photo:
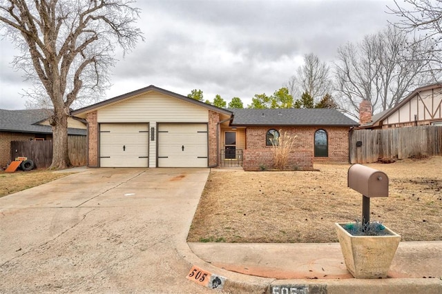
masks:
<svg viewBox="0 0 442 294"><path fill-rule="evenodd" d="M335 64L338 103L349 115L358 117L359 104L368 99L373 112L396 106L405 95L432 80L426 70L430 61L416 58L420 47L397 28L387 27L376 35L367 35L356 45L338 48Z"/></svg>

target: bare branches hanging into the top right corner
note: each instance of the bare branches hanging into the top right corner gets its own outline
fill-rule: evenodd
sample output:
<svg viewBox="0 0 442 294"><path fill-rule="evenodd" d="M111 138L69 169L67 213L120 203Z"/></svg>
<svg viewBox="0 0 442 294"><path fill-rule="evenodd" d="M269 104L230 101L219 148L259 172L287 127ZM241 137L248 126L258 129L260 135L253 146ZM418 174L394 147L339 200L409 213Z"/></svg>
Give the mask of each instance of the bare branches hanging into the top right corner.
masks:
<svg viewBox="0 0 442 294"><path fill-rule="evenodd" d="M432 46L421 46L422 59L430 60L430 70L442 71L442 1L441 0L404 0L402 5L394 0L395 8L390 13L401 20L393 23L403 32L412 33L416 43L430 43ZM437 79L438 77L436 77Z"/></svg>

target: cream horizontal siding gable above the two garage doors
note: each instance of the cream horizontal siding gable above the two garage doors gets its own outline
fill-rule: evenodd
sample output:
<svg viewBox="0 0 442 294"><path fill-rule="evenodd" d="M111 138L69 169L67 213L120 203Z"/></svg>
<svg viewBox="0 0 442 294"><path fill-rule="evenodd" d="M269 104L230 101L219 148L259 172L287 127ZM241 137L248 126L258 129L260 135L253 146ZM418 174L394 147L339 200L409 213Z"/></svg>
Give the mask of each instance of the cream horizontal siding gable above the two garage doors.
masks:
<svg viewBox="0 0 442 294"><path fill-rule="evenodd" d="M99 109L97 121L207 122L209 110L158 92L147 92Z"/></svg>

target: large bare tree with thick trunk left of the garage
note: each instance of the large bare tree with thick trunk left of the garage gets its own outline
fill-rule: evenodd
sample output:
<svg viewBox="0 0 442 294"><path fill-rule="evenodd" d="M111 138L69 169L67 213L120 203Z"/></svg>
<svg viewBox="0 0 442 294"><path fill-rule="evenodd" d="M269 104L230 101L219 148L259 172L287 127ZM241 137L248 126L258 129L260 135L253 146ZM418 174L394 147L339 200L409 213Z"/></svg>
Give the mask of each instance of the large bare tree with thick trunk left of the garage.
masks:
<svg viewBox="0 0 442 294"><path fill-rule="evenodd" d="M70 166L67 119L70 106L108 86L116 46L131 50L140 29L140 10L130 0L2 0L0 29L21 50L13 59L27 79L28 95L52 104L53 157L50 168ZM50 102L49 102L50 101Z"/></svg>

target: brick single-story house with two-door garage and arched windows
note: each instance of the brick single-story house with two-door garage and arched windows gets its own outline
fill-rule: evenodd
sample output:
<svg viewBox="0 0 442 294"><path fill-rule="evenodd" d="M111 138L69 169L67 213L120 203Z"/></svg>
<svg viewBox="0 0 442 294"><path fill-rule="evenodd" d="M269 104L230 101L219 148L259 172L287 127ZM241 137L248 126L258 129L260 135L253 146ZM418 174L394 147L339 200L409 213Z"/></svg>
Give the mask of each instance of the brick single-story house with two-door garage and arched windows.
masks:
<svg viewBox="0 0 442 294"><path fill-rule="evenodd" d="M89 167L271 168L271 141L296 135L293 168L348 161L358 124L333 109L223 109L148 86L71 112L86 119Z"/></svg>

